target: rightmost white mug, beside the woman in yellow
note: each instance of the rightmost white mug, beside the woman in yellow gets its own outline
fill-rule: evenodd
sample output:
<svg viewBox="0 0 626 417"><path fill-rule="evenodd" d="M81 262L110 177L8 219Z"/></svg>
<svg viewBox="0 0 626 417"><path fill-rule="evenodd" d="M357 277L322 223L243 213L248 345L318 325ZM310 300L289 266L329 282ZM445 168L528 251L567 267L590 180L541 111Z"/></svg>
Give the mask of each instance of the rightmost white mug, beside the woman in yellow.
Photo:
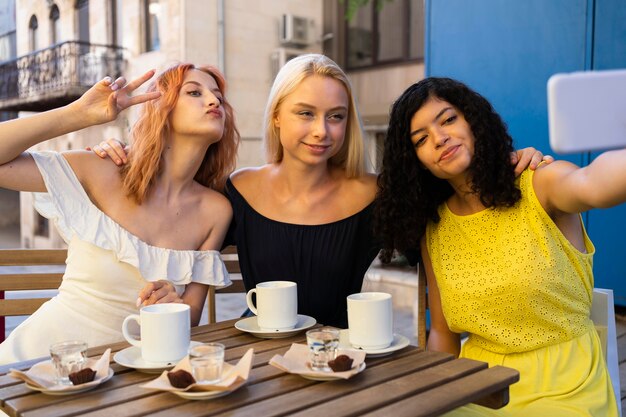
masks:
<svg viewBox="0 0 626 417"><path fill-rule="evenodd" d="M384 349L393 341L391 295L362 292L348 296L350 344L359 349Z"/></svg>

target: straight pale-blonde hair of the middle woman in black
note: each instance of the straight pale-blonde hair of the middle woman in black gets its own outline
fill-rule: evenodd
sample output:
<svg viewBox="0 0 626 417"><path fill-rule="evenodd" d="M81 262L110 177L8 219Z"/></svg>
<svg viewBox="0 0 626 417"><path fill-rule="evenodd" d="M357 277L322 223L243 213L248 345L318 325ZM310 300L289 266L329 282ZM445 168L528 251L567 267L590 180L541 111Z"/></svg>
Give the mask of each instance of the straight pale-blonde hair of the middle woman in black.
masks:
<svg viewBox="0 0 626 417"><path fill-rule="evenodd" d="M306 54L290 60L281 68L274 80L263 118L265 132L263 141L268 162L276 163L283 159L280 129L274 123L280 105L303 80L313 75L333 78L342 83L346 89L349 103L344 143L339 152L330 158L329 163L343 168L349 178L360 177L365 173L363 125L352 94L352 86L339 65L320 54Z"/></svg>

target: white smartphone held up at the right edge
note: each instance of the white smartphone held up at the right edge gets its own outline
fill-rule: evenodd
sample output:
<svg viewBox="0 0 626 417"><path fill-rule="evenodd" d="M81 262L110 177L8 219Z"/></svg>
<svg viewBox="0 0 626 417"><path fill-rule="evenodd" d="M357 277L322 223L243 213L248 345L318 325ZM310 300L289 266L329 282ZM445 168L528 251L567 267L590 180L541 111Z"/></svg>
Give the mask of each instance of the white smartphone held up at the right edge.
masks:
<svg viewBox="0 0 626 417"><path fill-rule="evenodd" d="M626 69L551 76L548 127L558 153L626 147Z"/></svg>

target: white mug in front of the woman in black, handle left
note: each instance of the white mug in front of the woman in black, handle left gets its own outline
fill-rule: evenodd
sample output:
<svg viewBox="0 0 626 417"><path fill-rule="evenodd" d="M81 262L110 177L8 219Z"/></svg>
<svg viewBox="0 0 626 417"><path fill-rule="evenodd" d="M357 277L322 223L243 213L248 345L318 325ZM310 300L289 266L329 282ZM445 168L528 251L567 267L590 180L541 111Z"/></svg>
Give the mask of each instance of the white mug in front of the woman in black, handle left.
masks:
<svg viewBox="0 0 626 417"><path fill-rule="evenodd" d="M252 303L256 294L256 306ZM295 282L267 281L246 294L248 308L262 330L288 330L298 323L298 290Z"/></svg>

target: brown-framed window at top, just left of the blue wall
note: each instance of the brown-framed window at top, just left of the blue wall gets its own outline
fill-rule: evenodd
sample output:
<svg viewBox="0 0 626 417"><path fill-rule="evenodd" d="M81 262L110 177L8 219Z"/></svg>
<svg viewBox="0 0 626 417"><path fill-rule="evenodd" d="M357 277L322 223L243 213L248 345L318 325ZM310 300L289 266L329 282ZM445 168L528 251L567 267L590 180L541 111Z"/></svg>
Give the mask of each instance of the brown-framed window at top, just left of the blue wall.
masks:
<svg viewBox="0 0 626 417"><path fill-rule="evenodd" d="M385 1L382 9L378 3L370 1L346 22L349 69L424 57L424 1Z"/></svg>

